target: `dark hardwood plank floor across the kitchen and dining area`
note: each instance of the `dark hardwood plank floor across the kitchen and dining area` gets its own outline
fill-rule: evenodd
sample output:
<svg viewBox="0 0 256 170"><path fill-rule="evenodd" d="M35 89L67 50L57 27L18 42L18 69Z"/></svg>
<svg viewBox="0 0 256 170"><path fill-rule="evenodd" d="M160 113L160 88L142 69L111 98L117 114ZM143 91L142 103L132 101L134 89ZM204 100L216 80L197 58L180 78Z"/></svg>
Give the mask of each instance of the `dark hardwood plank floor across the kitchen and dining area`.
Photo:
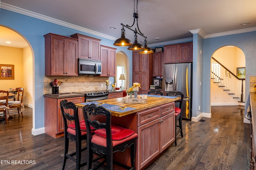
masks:
<svg viewBox="0 0 256 170"><path fill-rule="evenodd" d="M211 119L197 123L182 120L184 137L178 135L178 146L173 143L146 170L250 169L250 125L243 123L244 110L214 106L211 112ZM33 136L32 109L25 107L23 115L13 117L9 124L0 122L0 169L61 170L64 139L47 134ZM70 143L74 149L74 142ZM68 160L65 169L74 170L74 166Z"/></svg>

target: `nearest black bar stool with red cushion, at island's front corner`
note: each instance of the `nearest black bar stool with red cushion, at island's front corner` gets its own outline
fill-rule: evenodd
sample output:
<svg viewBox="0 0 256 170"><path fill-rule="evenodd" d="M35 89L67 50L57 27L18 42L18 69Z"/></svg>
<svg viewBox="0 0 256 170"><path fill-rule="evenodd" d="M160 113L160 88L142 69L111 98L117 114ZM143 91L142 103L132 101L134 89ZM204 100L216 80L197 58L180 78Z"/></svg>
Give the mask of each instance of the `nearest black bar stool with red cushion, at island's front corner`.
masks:
<svg viewBox="0 0 256 170"><path fill-rule="evenodd" d="M83 107L83 113L87 129L87 170L98 169L105 162L107 170L113 169L113 163L123 168L134 170L138 134L127 128L111 125L111 112L102 106L97 107L95 104L86 105ZM93 115L95 120L88 119L88 114ZM102 115L104 116L105 123L100 123L96 120L97 117L102 117ZM95 128L95 134L92 134L91 127ZM123 152L129 147L131 148L131 167L113 161L114 152ZM93 152L104 155L105 159L92 168Z"/></svg>

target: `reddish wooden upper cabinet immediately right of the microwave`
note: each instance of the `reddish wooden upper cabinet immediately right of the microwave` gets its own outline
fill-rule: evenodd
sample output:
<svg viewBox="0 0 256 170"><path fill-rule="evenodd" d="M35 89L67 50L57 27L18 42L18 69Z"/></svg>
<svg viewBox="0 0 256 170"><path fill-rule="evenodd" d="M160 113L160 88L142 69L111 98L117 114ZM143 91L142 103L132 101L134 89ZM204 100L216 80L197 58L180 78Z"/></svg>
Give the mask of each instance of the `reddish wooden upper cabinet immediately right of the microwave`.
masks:
<svg viewBox="0 0 256 170"><path fill-rule="evenodd" d="M100 45L101 51L101 75L107 77L116 77L116 48Z"/></svg>

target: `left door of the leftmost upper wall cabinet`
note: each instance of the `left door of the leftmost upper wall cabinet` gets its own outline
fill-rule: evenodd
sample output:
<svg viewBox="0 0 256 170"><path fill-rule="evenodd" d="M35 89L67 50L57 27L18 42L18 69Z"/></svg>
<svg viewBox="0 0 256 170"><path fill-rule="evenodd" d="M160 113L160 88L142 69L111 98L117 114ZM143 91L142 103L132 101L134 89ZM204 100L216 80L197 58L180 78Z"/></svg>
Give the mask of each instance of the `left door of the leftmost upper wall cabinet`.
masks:
<svg viewBox="0 0 256 170"><path fill-rule="evenodd" d="M52 75L63 75L63 57L65 49L65 39L52 37Z"/></svg>

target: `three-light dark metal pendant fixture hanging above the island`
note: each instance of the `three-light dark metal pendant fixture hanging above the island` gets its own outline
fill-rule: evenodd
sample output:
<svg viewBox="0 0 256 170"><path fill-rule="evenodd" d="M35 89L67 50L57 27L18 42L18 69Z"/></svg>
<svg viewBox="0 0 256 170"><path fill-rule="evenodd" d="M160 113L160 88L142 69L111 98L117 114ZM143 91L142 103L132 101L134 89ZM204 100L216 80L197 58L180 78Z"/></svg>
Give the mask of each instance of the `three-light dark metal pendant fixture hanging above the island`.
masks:
<svg viewBox="0 0 256 170"><path fill-rule="evenodd" d="M135 1L137 2L136 3L136 12L135 12ZM121 25L123 26L122 28L122 34L121 34L121 37L118 38L115 42L114 42L114 45L116 46L129 46L128 49L129 50L141 50L139 51L139 53L143 53L143 54L147 54L147 53L153 53L153 50L147 46L147 42L146 42L146 36L144 36L144 34L142 32L140 32L140 28L138 26L138 18L139 18L139 14L138 14L138 0L134 0L134 13L133 13L133 24L132 26L129 26L128 24L124 25L121 23ZM138 28L138 31L137 31L137 28L135 28L135 30L133 30L131 27L134 26L135 24L135 20L136 20L136 25L137 25L137 28ZM125 37L125 30L124 30L124 27L128 28L129 30L132 30L134 32L134 43L131 43L131 41ZM137 38L137 34L139 34L140 36L144 37L145 38L145 41L144 41L144 47L142 44L138 43L138 38ZM143 49L143 52L142 52L142 49ZM145 49L145 50L144 50Z"/></svg>

